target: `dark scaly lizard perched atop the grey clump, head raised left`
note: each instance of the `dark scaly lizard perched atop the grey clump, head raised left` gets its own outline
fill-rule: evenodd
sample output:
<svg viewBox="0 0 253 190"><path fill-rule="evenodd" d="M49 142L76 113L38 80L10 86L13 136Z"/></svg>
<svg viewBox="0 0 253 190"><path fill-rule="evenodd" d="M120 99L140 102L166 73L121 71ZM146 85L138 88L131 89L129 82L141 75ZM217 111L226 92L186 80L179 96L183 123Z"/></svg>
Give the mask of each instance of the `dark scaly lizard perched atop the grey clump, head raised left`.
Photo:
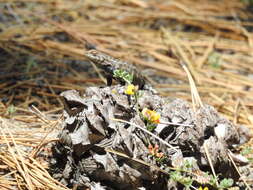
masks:
<svg viewBox="0 0 253 190"><path fill-rule="evenodd" d="M122 78L115 76L116 70L125 71L133 76L133 85L138 85L139 89L149 90L156 93L156 90L146 81L146 77L141 74L141 71L137 69L133 64L125 61L121 61L107 54L99 52L95 49L85 52L85 56L92 61L98 68L102 69L104 76L107 79L107 85L111 86L112 79L125 84Z"/></svg>

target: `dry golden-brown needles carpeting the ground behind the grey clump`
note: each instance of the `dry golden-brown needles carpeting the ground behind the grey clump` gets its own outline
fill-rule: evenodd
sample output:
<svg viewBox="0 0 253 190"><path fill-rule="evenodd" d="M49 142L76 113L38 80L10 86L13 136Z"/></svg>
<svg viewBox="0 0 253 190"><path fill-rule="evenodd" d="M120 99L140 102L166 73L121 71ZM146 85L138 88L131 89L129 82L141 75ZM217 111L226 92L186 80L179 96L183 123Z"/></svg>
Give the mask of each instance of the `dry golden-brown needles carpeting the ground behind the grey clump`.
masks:
<svg viewBox="0 0 253 190"><path fill-rule="evenodd" d="M56 140L52 134L63 109L59 93L102 84L94 69L73 66L73 60L85 60L85 47L179 81L152 82L164 96L191 101L182 61L203 103L235 124L253 127L253 23L241 1L0 2L9 19L0 22L5 51L0 52L0 142L6 145L0 168L8 171L0 178L1 189L64 189L48 175L39 152ZM31 110L32 104L42 112Z"/></svg>

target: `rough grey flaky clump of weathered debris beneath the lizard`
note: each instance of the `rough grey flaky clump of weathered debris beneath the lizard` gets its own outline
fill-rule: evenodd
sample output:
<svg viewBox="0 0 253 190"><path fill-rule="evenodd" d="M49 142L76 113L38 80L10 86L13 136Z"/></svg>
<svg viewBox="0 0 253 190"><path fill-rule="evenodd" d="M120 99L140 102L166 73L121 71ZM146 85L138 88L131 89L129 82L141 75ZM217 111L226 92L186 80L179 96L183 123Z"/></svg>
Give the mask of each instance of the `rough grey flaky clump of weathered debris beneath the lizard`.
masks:
<svg viewBox="0 0 253 190"><path fill-rule="evenodd" d="M51 170L59 181L91 189L178 189L182 184L169 174L186 162L195 185L201 182L194 172L211 172L210 162L223 178L238 180L228 156L239 143L237 128L212 106L194 112L181 99L170 101L147 90L135 99L124 89L116 85L89 87L84 95L62 93L64 127ZM161 116L153 129L147 129L144 109Z"/></svg>

